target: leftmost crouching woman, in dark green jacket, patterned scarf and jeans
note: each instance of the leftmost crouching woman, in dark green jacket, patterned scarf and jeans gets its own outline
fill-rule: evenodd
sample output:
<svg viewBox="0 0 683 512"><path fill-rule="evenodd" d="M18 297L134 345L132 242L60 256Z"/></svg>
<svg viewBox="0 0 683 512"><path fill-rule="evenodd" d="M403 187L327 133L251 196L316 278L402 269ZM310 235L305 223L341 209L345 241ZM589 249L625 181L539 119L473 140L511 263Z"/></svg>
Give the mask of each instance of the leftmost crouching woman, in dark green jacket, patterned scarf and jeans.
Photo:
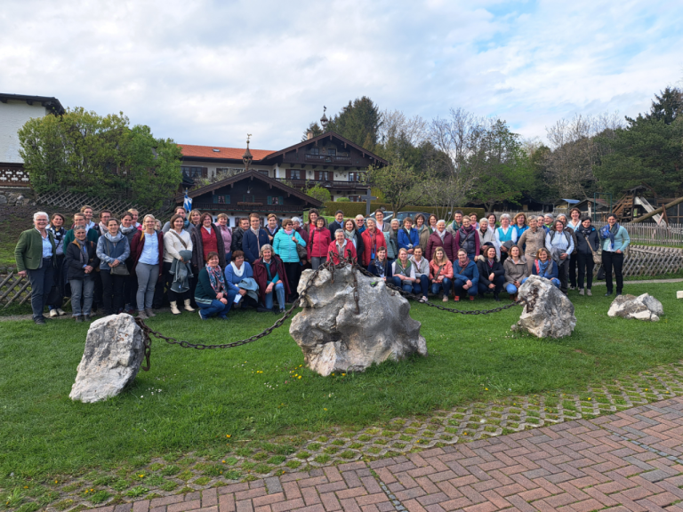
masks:
<svg viewBox="0 0 683 512"><path fill-rule="evenodd" d="M199 271L195 302L199 306L199 317L206 320L218 316L228 320L228 312L237 296L237 286L228 283L219 266L218 252L209 252L204 268Z"/></svg>

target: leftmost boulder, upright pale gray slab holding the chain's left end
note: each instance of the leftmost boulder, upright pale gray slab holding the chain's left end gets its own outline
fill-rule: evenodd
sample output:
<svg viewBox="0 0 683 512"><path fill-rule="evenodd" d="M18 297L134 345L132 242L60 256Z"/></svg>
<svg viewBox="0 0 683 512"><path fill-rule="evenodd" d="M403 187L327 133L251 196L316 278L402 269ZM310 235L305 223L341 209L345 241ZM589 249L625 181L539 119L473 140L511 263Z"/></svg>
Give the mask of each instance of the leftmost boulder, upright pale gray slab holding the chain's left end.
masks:
<svg viewBox="0 0 683 512"><path fill-rule="evenodd" d="M142 330L133 316L100 318L88 329L69 398L91 403L117 396L133 382L144 356Z"/></svg>

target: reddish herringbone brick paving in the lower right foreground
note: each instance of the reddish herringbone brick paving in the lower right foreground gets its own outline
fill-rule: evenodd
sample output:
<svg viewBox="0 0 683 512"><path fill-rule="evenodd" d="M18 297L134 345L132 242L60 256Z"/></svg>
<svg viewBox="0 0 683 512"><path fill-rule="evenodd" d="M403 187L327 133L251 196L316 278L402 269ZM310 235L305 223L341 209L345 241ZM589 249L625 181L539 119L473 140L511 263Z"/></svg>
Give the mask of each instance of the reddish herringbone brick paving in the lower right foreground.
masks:
<svg viewBox="0 0 683 512"><path fill-rule="evenodd" d="M681 510L683 397L595 420L98 512Z"/></svg>

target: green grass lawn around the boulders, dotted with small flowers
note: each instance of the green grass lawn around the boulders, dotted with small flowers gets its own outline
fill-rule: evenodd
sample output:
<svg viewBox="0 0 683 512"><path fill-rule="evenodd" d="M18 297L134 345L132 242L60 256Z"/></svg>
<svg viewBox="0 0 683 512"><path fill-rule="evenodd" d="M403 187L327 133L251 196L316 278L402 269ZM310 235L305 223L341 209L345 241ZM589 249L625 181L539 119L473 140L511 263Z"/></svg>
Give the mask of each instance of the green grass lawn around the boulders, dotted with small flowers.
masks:
<svg viewBox="0 0 683 512"><path fill-rule="evenodd" d="M579 297L575 333L566 340L513 335L520 308L462 316L414 304L430 356L385 363L365 373L323 378L309 372L288 323L240 348L195 350L155 340L152 368L121 396L100 404L68 398L83 354L87 325L30 321L0 324L0 480L117 468L169 452L225 449L226 436L308 438L333 426L361 428L395 417L472 401L580 391L683 358L680 284L630 284L650 292L666 315L658 323L607 317L601 294ZM597 289L599 290L599 289ZM453 303L451 303L453 304ZM494 308L478 300L462 308ZM206 343L260 332L276 316L231 315L227 323L170 314L149 325L179 339ZM294 375L296 374L296 376ZM298 377L301 376L301 379ZM485 390L488 388L488 391Z"/></svg>

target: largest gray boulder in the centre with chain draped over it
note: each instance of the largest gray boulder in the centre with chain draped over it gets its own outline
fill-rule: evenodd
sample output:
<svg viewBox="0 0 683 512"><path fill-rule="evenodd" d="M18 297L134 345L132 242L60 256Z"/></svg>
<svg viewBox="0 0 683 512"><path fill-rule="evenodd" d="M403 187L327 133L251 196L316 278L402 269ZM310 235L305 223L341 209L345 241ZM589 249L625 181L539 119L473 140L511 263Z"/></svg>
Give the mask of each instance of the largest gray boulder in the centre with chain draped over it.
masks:
<svg viewBox="0 0 683 512"><path fill-rule="evenodd" d="M358 315L352 273L358 281ZM300 293L311 276L313 270L301 275ZM306 365L320 375L362 372L371 364L415 352L427 356L427 342L420 335L420 322L410 317L410 304L379 277L346 266L334 270L333 282L330 271L321 270L301 306L289 333L301 347Z"/></svg>

